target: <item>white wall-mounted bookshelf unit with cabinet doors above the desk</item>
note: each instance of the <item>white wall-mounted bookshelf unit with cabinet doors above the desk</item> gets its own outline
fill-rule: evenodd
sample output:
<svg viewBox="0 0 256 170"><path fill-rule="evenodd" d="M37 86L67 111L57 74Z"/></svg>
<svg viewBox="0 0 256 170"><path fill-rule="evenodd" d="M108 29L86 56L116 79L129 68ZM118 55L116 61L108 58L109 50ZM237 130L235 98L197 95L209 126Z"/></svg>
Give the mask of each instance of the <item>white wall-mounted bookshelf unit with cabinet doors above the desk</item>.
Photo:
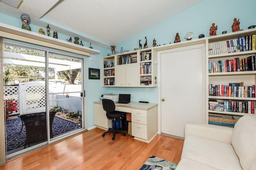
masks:
<svg viewBox="0 0 256 170"><path fill-rule="evenodd" d="M103 86L156 87L156 53L147 48L103 57Z"/></svg>

